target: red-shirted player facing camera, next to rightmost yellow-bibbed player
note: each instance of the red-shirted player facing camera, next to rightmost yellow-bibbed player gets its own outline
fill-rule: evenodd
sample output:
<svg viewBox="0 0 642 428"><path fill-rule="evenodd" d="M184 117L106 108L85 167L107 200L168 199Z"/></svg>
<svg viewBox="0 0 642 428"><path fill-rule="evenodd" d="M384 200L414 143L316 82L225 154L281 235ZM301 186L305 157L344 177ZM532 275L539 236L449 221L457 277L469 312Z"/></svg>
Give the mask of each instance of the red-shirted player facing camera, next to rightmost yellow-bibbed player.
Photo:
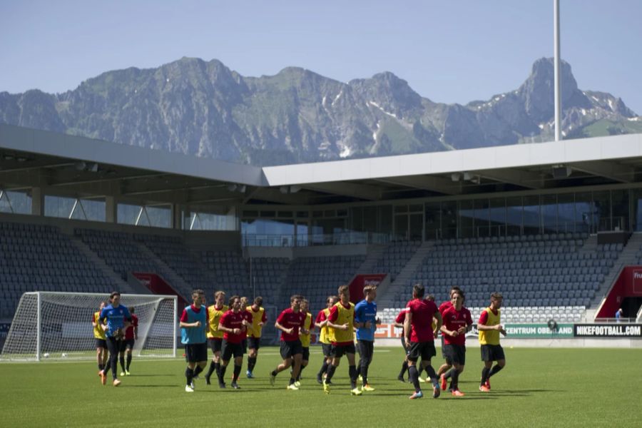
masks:
<svg viewBox="0 0 642 428"><path fill-rule="evenodd" d="M459 391L459 374L466 365L466 333L472 329L470 311L464 307L464 292L454 290L451 292L452 306L442 312L444 325L444 355L446 362L452 369L439 377L442 389L446 389L447 379L451 378L450 390L454 397L463 397Z"/></svg>

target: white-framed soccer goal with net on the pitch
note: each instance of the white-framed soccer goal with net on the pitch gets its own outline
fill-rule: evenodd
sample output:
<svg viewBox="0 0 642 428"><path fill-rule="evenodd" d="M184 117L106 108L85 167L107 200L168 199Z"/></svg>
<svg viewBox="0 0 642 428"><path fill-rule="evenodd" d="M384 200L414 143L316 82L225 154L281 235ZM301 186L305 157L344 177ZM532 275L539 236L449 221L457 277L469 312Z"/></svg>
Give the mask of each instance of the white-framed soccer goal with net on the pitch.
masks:
<svg viewBox="0 0 642 428"><path fill-rule="evenodd" d="M26 292L20 298L0 360L91 359L96 345L91 321L109 295ZM175 357L178 300L169 295L121 295L136 307L138 340L133 354Z"/></svg>

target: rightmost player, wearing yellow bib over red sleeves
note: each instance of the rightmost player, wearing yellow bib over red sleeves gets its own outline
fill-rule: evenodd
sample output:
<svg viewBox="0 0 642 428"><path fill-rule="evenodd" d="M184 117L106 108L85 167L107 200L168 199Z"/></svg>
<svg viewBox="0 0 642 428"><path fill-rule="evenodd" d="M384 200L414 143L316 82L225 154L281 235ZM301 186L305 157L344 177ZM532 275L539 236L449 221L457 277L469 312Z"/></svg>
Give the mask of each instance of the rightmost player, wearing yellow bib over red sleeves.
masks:
<svg viewBox="0 0 642 428"><path fill-rule="evenodd" d="M484 368L481 370L481 381L479 390L481 392L490 391L490 378L506 365L504 349L499 345L499 333L506 336L506 330L501 325L501 303L504 297L499 292L491 294L491 304L481 311L481 316L477 322L479 330L479 344L481 345L481 361L484 362ZM496 361L495 367L492 367ZM491 368L492 367L492 368Z"/></svg>

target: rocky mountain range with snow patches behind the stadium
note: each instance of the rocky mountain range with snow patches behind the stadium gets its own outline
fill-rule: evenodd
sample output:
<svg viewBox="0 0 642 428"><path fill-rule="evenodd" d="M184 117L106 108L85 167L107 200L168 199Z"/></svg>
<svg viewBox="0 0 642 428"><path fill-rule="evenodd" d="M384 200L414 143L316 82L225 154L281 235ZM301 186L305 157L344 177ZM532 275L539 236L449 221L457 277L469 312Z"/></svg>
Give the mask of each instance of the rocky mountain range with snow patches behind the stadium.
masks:
<svg viewBox="0 0 642 428"><path fill-rule="evenodd" d="M0 92L0 122L115 143L280 165L550 141L551 58L519 88L466 105L419 96L392 73L348 83L304 68L247 77L217 60L108 71L65 93ZM641 133L610 93L581 90L561 63L564 138Z"/></svg>

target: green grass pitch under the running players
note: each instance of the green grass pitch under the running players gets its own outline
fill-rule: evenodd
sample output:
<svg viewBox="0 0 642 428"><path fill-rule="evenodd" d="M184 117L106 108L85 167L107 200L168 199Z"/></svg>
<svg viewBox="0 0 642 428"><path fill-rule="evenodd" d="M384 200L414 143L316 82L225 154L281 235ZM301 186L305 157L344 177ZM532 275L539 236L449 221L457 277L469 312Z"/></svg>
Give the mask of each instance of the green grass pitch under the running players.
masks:
<svg viewBox="0 0 642 428"><path fill-rule="evenodd" d="M93 362L0 364L0 424L4 427L233 427L253 425L360 427L619 427L640 426L642 349L528 349L506 351L506 368L478 390L479 349L469 348L460 377L465 397L447 392L409 400L412 385L398 382L402 350L377 347L370 367L376 391L350 396L347 360L342 359L330 395L315 381L321 364L313 347L300 391L285 389L289 377L267 373L280 360L276 347L260 350L256 379L240 378L242 389L220 390L196 381L184 390L182 359L132 362L120 387L100 384ZM437 350L439 354L439 350ZM433 359L434 367L442 363ZM120 369L119 369L120 370ZM226 377L230 377L230 365ZM338 419L340 418L340 419ZM334 421L334 422L333 422Z"/></svg>

